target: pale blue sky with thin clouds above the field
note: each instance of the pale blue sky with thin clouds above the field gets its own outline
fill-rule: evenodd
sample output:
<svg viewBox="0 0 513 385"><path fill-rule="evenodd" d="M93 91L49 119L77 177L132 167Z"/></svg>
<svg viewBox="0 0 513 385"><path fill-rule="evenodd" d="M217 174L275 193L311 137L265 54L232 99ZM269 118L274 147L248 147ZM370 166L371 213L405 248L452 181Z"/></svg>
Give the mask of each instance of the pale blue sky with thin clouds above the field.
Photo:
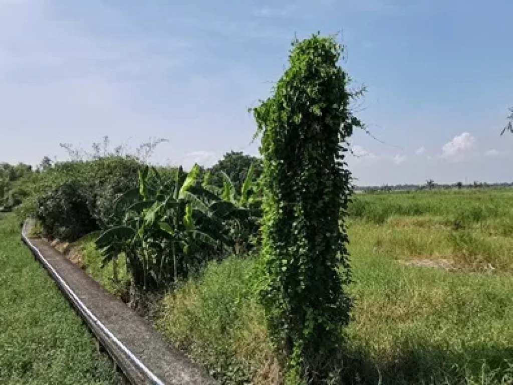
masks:
<svg viewBox="0 0 513 385"><path fill-rule="evenodd" d="M258 155L248 108L294 36L338 33L365 86L358 185L511 182L510 0L0 0L0 161L65 160L108 136L152 162Z"/></svg>

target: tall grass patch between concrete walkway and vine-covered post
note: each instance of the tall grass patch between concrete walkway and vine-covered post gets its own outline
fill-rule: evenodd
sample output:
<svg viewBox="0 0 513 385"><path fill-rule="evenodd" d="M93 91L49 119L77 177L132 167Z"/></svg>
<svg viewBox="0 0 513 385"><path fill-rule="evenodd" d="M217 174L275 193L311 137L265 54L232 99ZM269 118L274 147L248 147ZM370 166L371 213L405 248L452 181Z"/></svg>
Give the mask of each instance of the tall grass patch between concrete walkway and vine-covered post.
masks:
<svg viewBox="0 0 513 385"><path fill-rule="evenodd" d="M223 384L250 383L271 354L253 280L252 258L210 262L198 279L166 295L156 323Z"/></svg>

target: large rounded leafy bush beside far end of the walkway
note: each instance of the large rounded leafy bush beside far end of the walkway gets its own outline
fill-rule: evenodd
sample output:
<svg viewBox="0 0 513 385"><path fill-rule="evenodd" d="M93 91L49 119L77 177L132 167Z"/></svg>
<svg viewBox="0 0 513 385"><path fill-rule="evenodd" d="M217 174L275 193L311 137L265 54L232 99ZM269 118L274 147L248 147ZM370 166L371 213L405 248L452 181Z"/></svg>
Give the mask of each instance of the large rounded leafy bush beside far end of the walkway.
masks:
<svg viewBox="0 0 513 385"><path fill-rule="evenodd" d="M109 225L115 197L136 186L141 168L124 158L56 163L18 181L25 198L17 214L35 214L46 236L74 241Z"/></svg>

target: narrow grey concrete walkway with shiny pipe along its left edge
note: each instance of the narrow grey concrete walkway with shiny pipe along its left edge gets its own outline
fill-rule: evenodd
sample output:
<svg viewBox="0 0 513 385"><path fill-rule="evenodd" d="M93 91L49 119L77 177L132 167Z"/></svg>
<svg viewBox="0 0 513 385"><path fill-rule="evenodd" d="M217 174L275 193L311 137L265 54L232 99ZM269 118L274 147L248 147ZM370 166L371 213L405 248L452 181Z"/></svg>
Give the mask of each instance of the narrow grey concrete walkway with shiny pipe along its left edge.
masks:
<svg viewBox="0 0 513 385"><path fill-rule="evenodd" d="M31 220L24 223L22 241L31 249L34 257L44 265L100 344L105 347L132 384L216 384L203 369L190 362L179 351L167 346L162 337L151 330L151 326L144 319L100 287L78 266L73 265L46 242L30 238L27 231L32 226ZM70 273L68 277L63 274L66 272ZM81 298L80 293L75 293L76 287L73 290L74 285L81 286L83 293L90 288L93 295L82 295L83 298ZM110 312L105 312L103 317L102 314L95 315L94 309L90 309L91 305L95 305L96 308L104 306ZM109 330L108 327L114 329L113 323L117 326L115 331ZM123 333L124 331L126 333ZM138 357L132 352L133 348L143 350L142 354ZM177 373L177 369L180 369L180 373Z"/></svg>

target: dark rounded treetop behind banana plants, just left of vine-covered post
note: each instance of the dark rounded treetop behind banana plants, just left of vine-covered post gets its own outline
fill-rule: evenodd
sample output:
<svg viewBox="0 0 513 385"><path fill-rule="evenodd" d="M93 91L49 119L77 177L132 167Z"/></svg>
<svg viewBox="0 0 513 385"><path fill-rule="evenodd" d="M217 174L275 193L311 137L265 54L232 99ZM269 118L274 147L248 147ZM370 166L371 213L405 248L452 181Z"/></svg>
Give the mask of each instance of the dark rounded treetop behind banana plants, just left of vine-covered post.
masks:
<svg viewBox="0 0 513 385"><path fill-rule="evenodd" d="M263 170L263 162L260 158L247 155L242 151L227 152L223 159L214 164L210 169L210 183L215 186L223 186L223 177L220 171L224 171L233 183L236 191L240 191L249 166L254 164L254 176L259 178Z"/></svg>

